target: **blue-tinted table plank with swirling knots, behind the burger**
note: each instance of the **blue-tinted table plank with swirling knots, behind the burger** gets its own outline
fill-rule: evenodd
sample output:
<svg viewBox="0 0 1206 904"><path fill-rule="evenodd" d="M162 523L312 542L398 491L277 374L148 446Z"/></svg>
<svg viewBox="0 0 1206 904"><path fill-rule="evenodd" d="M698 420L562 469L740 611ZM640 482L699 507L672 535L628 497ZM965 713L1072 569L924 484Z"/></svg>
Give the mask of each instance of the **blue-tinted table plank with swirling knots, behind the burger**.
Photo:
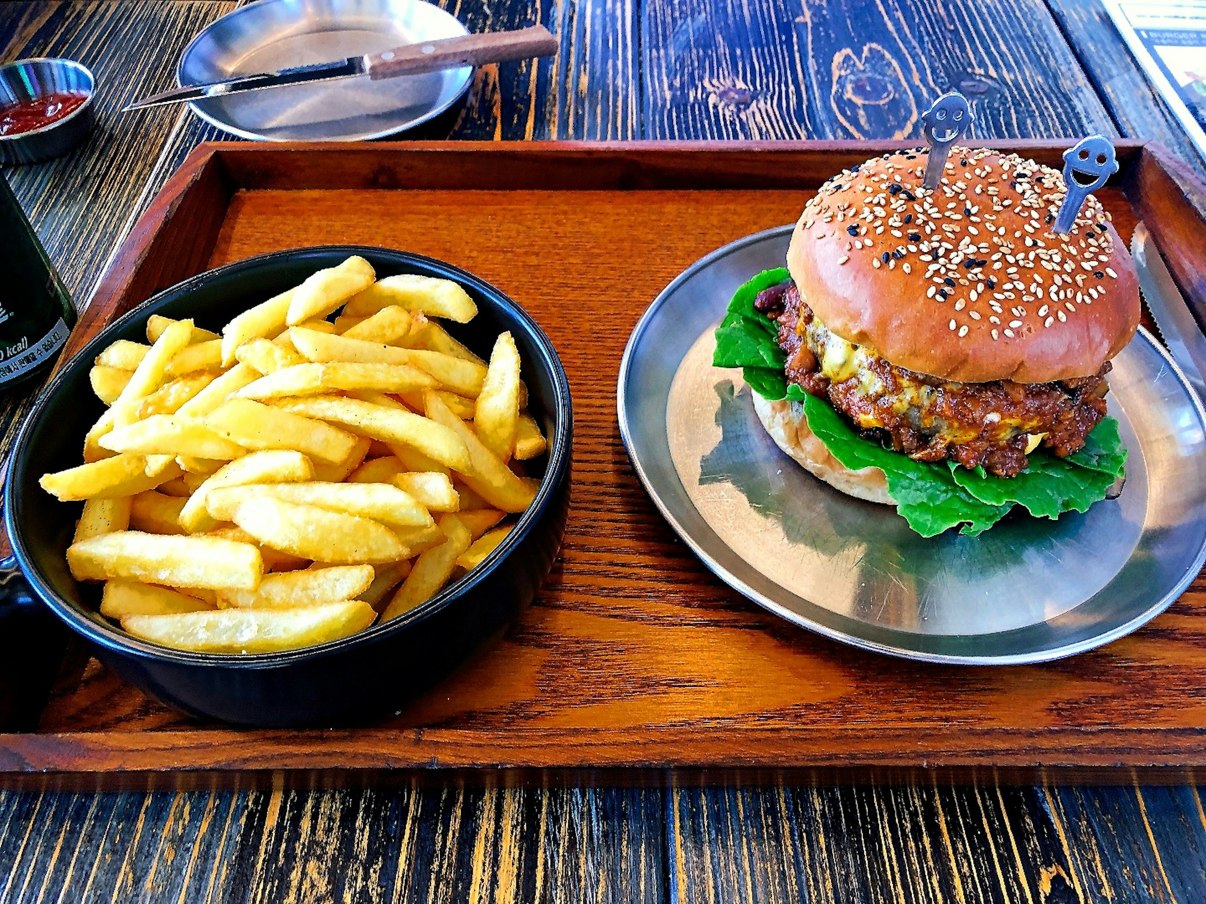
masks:
<svg viewBox="0 0 1206 904"><path fill-rule="evenodd" d="M978 137L1117 134L1041 0L655 0L642 54L648 137L919 137L952 89Z"/></svg>

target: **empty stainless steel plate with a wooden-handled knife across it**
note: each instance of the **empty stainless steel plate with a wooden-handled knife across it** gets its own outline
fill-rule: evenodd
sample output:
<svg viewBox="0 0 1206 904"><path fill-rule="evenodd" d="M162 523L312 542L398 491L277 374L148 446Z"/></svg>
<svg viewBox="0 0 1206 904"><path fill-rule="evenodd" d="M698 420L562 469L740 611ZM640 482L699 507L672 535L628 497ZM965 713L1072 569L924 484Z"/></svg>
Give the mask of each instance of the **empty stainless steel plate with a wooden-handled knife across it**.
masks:
<svg viewBox="0 0 1206 904"><path fill-rule="evenodd" d="M185 49L181 87L379 53L468 34L421 0L259 0L227 13ZM361 141L393 135L447 110L472 66L377 82L368 76L248 92L189 104L209 123L259 141Z"/></svg>

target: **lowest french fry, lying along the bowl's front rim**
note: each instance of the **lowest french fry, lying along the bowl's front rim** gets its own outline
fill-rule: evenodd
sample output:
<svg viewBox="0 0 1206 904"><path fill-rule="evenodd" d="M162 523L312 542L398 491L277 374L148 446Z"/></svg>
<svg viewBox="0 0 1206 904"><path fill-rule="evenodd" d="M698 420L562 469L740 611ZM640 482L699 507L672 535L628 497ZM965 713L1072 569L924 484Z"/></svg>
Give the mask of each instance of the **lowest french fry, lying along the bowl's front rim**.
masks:
<svg viewBox="0 0 1206 904"><path fill-rule="evenodd" d="M368 603L347 600L305 609L219 609L181 615L130 615L136 638L206 653L273 653L326 644L364 630L376 618Z"/></svg>

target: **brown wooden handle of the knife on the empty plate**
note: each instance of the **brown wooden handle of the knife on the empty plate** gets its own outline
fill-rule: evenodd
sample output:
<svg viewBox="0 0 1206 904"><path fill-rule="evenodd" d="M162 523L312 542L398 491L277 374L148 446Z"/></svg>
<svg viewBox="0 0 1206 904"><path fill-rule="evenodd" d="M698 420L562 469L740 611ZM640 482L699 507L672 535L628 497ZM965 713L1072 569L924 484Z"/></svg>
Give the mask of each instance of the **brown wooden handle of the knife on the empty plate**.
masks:
<svg viewBox="0 0 1206 904"><path fill-rule="evenodd" d="M505 63L511 59L551 57L557 52L557 40L544 25L517 31L492 31L484 35L463 35L443 41L394 47L369 57L369 77L393 78L400 75L437 72L441 69L478 66L482 63Z"/></svg>

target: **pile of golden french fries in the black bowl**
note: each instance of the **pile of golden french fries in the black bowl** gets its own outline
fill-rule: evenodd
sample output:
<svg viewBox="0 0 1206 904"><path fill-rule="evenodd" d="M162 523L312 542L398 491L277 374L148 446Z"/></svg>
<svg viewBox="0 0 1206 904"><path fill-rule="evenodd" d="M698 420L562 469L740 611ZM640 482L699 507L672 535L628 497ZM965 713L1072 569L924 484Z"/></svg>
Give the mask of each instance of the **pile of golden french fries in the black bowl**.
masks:
<svg viewBox="0 0 1206 904"><path fill-rule="evenodd" d="M503 541L546 446L511 335L487 363L437 323L476 312L455 282L351 257L221 335L152 316L148 345L96 358L84 464L41 479L84 500L71 574L130 634L201 652L321 644L431 599Z"/></svg>

